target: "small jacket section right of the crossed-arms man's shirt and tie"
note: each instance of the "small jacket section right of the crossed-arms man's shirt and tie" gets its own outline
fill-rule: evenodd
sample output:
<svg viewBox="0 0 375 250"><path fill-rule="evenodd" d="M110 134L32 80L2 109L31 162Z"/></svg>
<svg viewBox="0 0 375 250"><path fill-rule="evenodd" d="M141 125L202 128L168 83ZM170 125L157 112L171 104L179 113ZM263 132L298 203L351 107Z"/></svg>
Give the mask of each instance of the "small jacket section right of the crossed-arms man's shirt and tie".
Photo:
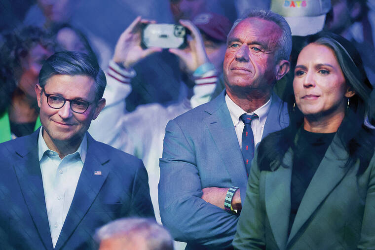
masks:
<svg viewBox="0 0 375 250"><path fill-rule="evenodd" d="M269 133L279 131L286 128L289 124L289 116L287 105L282 103L281 99L276 95L272 95L271 107L265 120L262 139Z"/></svg>

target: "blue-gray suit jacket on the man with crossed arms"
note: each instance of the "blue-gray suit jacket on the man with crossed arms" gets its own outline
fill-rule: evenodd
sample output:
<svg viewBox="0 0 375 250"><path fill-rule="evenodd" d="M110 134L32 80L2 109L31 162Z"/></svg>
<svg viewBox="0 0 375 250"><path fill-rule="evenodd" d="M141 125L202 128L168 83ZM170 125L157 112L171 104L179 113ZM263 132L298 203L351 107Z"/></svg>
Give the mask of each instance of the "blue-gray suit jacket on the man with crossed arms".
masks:
<svg viewBox="0 0 375 250"><path fill-rule="evenodd" d="M274 95L263 137L288 125L286 105ZM169 121L160 158L163 225L188 249L231 247L238 215L201 199L205 187L241 188L247 174L223 91L213 101Z"/></svg>

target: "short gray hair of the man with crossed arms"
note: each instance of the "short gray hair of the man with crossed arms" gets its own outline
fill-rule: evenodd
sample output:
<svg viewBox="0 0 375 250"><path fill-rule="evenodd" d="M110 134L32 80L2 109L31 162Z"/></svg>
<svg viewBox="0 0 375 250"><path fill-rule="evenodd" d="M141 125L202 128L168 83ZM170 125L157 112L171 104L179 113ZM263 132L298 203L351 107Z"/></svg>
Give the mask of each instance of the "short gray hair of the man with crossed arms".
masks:
<svg viewBox="0 0 375 250"><path fill-rule="evenodd" d="M277 24L280 29L283 31L283 34L280 36L279 40L277 41L277 50L275 52L276 62L280 60L288 60L290 54L292 52L292 32L289 27L288 22L285 18L273 11L265 10L265 9L251 9L247 11L242 17L238 18L232 28L228 33L229 35L233 32L234 28L243 20L250 17L257 17L260 19L264 19L267 21L274 22Z"/></svg>

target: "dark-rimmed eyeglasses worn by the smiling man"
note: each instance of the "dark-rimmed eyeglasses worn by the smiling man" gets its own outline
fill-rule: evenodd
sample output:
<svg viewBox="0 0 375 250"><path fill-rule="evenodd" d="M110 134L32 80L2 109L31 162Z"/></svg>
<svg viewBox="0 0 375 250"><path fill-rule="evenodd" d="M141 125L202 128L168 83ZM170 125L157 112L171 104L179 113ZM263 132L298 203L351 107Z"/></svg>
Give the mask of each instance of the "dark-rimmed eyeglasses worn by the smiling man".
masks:
<svg viewBox="0 0 375 250"><path fill-rule="evenodd" d="M72 111L75 113L81 114L81 113L86 112L87 108L90 106L90 104L92 104L83 100L78 100L78 99L71 100L71 99L65 99L64 97L58 96L58 95L50 95L50 94L45 93L44 88L43 88L43 93L47 97L48 106L55 108L55 109L62 108L65 105L66 101L69 101Z"/></svg>

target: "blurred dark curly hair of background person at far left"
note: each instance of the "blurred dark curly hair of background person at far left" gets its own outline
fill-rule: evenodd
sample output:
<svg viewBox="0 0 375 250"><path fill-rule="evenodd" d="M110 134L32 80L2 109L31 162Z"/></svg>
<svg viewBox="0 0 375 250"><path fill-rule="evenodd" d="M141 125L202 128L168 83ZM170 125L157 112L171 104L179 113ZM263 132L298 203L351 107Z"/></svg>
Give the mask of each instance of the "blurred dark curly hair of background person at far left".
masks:
<svg viewBox="0 0 375 250"><path fill-rule="evenodd" d="M3 44L0 48L0 114L9 106L13 91L17 88L22 73L21 58L40 43L53 47L49 36L38 27L27 26L1 34Z"/></svg>

